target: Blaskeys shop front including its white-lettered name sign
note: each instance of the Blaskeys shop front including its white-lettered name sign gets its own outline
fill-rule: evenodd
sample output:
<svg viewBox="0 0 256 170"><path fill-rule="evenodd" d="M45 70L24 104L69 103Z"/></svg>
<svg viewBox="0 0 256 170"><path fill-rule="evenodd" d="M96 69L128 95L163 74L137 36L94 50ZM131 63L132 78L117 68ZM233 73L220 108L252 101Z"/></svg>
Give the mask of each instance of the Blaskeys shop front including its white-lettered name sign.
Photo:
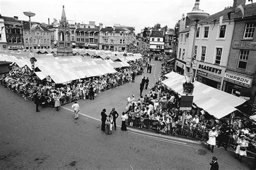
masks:
<svg viewBox="0 0 256 170"><path fill-rule="evenodd" d="M225 67L199 62L197 64L196 79L200 83L221 89Z"/></svg>

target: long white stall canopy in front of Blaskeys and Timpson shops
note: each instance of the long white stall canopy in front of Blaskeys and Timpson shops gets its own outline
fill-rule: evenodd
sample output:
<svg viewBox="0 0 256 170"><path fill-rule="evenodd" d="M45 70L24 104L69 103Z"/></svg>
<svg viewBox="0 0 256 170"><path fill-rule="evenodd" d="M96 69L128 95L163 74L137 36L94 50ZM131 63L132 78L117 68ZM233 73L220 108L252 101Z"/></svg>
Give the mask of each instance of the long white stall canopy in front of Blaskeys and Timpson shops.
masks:
<svg viewBox="0 0 256 170"><path fill-rule="evenodd" d="M185 77L176 73L170 72L165 74L168 79L162 81L167 87L181 95L183 94L183 83ZM193 91L193 103L198 107L203 108L215 118L220 119L237 110L237 106L244 104L245 99L233 96L232 94L220 91L211 86L195 81Z"/></svg>

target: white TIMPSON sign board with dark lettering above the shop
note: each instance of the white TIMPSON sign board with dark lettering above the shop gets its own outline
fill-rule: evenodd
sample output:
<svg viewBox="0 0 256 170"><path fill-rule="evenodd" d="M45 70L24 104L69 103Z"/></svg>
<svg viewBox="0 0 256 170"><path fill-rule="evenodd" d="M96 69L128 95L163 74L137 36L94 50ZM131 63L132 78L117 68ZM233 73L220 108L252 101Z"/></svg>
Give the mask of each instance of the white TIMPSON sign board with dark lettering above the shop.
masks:
<svg viewBox="0 0 256 170"><path fill-rule="evenodd" d="M239 84L239 85L245 86L245 87L250 87L250 85L251 85L251 79L241 77L241 76L236 76L236 75L230 74L230 73L225 73L224 80L230 81L232 83Z"/></svg>

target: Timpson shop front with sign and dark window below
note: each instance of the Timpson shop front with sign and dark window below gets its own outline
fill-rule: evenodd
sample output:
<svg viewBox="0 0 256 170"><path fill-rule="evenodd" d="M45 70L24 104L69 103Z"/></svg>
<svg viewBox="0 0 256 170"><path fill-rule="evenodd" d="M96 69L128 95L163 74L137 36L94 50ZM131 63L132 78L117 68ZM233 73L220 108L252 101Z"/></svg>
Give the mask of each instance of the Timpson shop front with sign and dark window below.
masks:
<svg viewBox="0 0 256 170"><path fill-rule="evenodd" d="M226 72L223 89L234 96L250 100L252 79L252 77Z"/></svg>

